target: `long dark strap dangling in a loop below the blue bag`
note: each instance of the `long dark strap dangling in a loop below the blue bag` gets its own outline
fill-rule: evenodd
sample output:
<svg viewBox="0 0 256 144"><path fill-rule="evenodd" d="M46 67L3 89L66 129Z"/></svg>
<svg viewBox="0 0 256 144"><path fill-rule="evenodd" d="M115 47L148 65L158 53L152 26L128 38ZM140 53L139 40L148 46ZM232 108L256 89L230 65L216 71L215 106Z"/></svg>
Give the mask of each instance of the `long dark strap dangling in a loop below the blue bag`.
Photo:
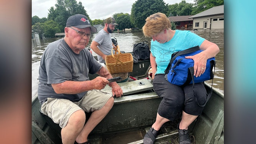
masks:
<svg viewBox="0 0 256 144"><path fill-rule="evenodd" d="M211 62L211 64L212 64L212 62ZM214 71L213 71L213 75L214 75L214 73L215 73L215 61L214 61L213 65L214 65ZM189 73L190 73L190 75L189 75ZM194 95L195 100L197 101L197 97L196 97L195 91L194 91L194 90L195 90L195 88L194 88L194 85L195 85L195 82L194 82L194 67L189 67L189 72L188 72L188 76L187 76L187 81L188 81L188 79L190 79L190 81L189 81L188 83L190 83L190 82L191 82L191 79L192 79L192 82L193 82L193 95ZM187 83L187 81L186 81L185 83ZM184 85L185 85L185 83L184 83ZM182 85L182 86L184 86L184 85ZM212 78L212 85L213 85L213 78ZM204 103L203 105L200 105L200 104L198 103L198 101L197 101L197 104L198 104L199 106L205 106L211 96L212 96L212 87L211 87L210 92L207 93L207 99L206 99L205 103Z"/></svg>

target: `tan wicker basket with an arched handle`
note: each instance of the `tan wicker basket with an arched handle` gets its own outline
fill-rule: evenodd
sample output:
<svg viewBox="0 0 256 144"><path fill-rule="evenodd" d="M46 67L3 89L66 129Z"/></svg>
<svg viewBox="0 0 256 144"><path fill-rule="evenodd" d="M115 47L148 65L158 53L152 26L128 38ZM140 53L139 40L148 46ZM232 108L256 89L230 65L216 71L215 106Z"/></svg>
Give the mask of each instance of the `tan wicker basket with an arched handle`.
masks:
<svg viewBox="0 0 256 144"><path fill-rule="evenodd" d="M114 48L113 48L114 49ZM133 71L133 56L131 53L120 52L120 48L117 45L115 50L115 54L106 56L106 66L110 74L118 74L124 72L132 72ZM117 54L118 51L118 54Z"/></svg>

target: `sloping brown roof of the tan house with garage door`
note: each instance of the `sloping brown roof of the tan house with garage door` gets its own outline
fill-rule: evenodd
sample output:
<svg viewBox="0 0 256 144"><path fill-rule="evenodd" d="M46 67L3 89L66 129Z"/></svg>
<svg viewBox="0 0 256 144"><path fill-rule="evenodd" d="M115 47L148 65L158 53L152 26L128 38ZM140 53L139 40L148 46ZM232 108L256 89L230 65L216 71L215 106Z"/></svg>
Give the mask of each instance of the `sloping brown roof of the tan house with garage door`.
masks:
<svg viewBox="0 0 256 144"><path fill-rule="evenodd" d="M199 17L204 17L204 16L223 15L223 14L224 14L224 5L220 5L220 6L212 7L208 10L202 11L201 13L198 13L189 18L199 18Z"/></svg>

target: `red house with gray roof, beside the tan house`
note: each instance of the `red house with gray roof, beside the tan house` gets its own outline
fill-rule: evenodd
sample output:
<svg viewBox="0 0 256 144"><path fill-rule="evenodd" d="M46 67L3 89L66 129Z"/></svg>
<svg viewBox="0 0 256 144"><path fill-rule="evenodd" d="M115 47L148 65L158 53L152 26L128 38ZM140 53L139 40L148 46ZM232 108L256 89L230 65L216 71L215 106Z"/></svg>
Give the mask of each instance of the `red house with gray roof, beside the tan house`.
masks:
<svg viewBox="0 0 256 144"><path fill-rule="evenodd" d="M185 16L170 16L168 19L171 22L174 22L176 25L176 29L187 29L193 28L193 19L189 19L191 15Z"/></svg>

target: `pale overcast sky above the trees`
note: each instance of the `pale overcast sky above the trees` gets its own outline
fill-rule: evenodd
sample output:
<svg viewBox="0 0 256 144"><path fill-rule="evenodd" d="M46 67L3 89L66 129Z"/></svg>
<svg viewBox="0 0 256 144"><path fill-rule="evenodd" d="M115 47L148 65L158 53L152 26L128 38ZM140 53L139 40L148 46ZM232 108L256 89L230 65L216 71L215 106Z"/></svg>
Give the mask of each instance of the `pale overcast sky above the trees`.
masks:
<svg viewBox="0 0 256 144"><path fill-rule="evenodd" d="M115 13L131 14L131 5L136 0L77 0L82 2L91 20L104 20ZM182 0L164 0L165 3L180 3ZM187 3L194 3L194 0L185 0ZM32 0L32 16L43 18L48 16L49 9L55 8L57 0Z"/></svg>

